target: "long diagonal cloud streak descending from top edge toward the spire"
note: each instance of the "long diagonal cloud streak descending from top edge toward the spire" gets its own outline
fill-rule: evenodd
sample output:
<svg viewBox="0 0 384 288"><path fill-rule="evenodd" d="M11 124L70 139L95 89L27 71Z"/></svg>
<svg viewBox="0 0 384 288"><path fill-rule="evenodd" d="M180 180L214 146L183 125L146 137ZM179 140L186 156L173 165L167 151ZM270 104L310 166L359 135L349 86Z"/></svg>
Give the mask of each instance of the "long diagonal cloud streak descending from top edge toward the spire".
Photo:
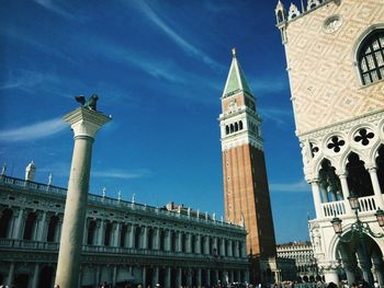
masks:
<svg viewBox="0 0 384 288"><path fill-rule="evenodd" d="M184 51L187 51L194 58L210 65L214 69L224 69L224 67L221 64L213 60L206 53L193 46L185 38L181 37L171 26L167 25L166 22L161 20L160 16L154 11L154 9L151 9L145 1L139 1L138 4L144 14L180 48L182 48Z"/></svg>

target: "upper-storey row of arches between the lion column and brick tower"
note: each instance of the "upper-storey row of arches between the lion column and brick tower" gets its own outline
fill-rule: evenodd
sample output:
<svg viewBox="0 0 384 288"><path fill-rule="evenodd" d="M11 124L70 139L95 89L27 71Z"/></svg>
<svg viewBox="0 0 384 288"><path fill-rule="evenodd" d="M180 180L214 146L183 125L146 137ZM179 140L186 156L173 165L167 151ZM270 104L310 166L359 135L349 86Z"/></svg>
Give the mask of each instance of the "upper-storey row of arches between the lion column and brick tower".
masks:
<svg viewBox="0 0 384 288"><path fill-rule="evenodd" d="M86 244L236 257L245 250L245 244L237 240L100 220L89 221Z"/></svg>

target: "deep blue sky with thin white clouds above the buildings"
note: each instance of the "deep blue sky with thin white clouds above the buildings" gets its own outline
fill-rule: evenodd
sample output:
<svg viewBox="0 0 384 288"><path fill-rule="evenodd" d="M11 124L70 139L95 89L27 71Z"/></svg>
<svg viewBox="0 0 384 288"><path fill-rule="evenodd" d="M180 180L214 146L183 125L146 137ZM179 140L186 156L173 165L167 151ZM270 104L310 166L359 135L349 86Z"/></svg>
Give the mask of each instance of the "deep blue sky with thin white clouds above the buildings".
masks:
<svg viewBox="0 0 384 288"><path fill-rule="evenodd" d="M257 97L279 243L306 240L285 56L271 0L1 1L0 163L66 186L74 96L98 93L113 122L93 146L91 193L223 215L218 115L236 47Z"/></svg>

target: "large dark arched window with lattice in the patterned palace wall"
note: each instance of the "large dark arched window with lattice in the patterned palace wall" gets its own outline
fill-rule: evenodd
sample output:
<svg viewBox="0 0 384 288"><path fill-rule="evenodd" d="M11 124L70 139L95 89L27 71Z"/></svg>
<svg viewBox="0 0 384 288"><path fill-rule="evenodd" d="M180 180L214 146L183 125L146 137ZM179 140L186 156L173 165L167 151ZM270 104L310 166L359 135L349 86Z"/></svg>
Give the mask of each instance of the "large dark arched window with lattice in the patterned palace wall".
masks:
<svg viewBox="0 0 384 288"><path fill-rule="evenodd" d="M358 64L364 85L384 79L384 30L365 37L358 50Z"/></svg>

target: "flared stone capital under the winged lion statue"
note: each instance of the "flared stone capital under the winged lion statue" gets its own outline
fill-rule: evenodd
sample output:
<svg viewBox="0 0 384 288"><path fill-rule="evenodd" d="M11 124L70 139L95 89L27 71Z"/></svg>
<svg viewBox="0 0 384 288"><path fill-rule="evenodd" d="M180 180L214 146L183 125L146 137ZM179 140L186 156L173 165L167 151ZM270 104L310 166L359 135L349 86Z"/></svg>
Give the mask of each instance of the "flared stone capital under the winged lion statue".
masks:
<svg viewBox="0 0 384 288"><path fill-rule="evenodd" d="M94 139L98 130L103 124L109 123L111 117L92 110L79 107L65 115L63 119L70 124L75 138L90 137Z"/></svg>

